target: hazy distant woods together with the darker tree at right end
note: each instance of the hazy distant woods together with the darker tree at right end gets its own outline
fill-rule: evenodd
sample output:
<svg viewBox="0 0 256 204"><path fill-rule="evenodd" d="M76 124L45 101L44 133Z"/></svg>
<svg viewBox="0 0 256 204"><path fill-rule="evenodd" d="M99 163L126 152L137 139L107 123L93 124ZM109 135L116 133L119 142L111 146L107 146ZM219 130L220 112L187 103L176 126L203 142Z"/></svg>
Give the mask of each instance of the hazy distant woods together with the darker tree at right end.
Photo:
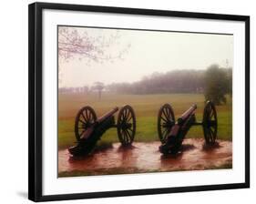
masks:
<svg viewBox="0 0 256 204"><path fill-rule="evenodd" d="M206 70L175 70L153 73L134 83L113 83L106 88L118 94L203 93L206 100L226 102L231 94L232 69L211 65ZM218 97L218 99L213 99Z"/></svg>

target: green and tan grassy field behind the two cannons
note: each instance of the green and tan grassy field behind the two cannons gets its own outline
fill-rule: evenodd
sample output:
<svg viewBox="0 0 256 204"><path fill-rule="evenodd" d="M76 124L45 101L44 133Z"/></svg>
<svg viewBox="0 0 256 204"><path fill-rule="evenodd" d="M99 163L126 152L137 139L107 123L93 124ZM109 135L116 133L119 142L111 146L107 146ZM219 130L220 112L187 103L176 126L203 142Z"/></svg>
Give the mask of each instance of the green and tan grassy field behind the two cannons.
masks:
<svg viewBox="0 0 256 204"><path fill-rule="evenodd" d="M101 99L97 95L67 95L58 96L58 148L68 148L76 142L74 124L77 111L84 106L95 109L97 117L108 112L113 107L130 105L134 108L137 118L137 133L135 141L159 140L157 133L157 119L159 108L169 103L178 118L192 104L197 104L197 120L202 119L204 97L200 94L166 94L166 95L107 95L103 93ZM217 107L218 113L218 138L232 139L232 106L230 98L225 106ZM117 116L118 114L116 114ZM189 130L187 138L203 138L201 127ZM109 129L101 142L117 142L118 135L115 128Z"/></svg>

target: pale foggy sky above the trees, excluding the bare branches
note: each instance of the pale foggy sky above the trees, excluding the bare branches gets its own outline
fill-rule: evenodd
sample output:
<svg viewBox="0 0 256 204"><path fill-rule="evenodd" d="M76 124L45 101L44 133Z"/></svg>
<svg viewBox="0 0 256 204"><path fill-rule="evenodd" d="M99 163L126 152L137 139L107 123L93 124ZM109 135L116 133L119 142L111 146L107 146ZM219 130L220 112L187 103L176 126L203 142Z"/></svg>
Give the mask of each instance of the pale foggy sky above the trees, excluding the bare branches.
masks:
<svg viewBox="0 0 256 204"><path fill-rule="evenodd" d="M100 28L77 28L98 35ZM116 33L113 29L100 29L101 35ZM130 44L124 60L113 63L90 63L87 59L71 59L59 64L62 82L59 87L91 86L100 81L134 82L154 72L165 73L175 69L206 69L211 64L232 66L233 36L176 32L118 30L119 44L109 53ZM227 64L228 62L228 64Z"/></svg>

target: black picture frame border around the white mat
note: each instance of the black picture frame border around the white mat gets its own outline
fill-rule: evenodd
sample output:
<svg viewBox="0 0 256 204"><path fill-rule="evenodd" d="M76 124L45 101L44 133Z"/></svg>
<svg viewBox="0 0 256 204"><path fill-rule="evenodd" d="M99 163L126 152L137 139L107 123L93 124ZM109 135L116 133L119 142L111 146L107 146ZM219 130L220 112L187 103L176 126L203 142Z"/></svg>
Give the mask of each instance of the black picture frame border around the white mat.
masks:
<svg viewBox="0 0 256 204"><path fill-rule="evenodd" d="M28 199L34 201L49 201L63 199L91 199L105 197L134 196L147 194L175 193L187 191L242 189L250 188L250 16L247 15L220 15L167 10L148 10L125 7L108 7L94 5L67 5L34 3L28 6ZM221 185L205 185L179 188L160 189L132 189L118 191L104 191L92 193L76 193L63 195L42 194L42 12L44 9L91 11L112 14L128 15L159 15L187 18L202 18L214 20L230 20L245 23L245 182Z"/></svg>

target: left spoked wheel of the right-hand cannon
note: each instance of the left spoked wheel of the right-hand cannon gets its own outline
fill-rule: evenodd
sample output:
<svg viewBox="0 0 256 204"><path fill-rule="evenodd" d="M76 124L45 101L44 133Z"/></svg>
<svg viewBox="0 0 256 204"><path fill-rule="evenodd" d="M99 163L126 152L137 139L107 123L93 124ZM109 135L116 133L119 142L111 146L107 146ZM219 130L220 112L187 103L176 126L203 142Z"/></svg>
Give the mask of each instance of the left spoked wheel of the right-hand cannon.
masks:
<svg viewBox="0 0 256 204"><path fill-rule="evenodd" d="M175 125L175 117L172 107L165 104L159 109L158 132L161 143L165 143L171 128Z"/></svg>

